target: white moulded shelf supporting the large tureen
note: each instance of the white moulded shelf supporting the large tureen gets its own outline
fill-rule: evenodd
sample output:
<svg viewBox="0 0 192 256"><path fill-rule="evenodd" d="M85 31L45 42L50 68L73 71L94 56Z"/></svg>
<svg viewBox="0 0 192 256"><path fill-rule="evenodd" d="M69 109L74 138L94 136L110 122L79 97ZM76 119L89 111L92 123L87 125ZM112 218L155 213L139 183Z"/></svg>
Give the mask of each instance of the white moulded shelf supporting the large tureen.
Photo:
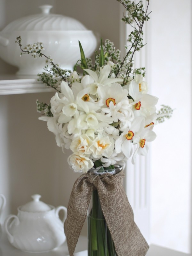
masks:
<svg viewBox="0 0 192 256"><path fill-rule="evenodd" d="M16 76L1 76L0 79L0 95L55 91L36 78L18 79Z"/></svg>

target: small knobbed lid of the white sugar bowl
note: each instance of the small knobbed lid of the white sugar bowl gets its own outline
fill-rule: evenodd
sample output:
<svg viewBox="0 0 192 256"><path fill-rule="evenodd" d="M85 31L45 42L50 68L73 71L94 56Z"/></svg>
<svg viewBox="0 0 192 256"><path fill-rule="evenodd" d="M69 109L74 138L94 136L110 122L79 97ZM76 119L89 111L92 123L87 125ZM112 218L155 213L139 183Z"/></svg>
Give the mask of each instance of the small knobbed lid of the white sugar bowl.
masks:
<svg viewBox="0 0 192 256"><path fill-rule="evenodd" d="M48 204L45 204L44 202L39 200L41 198L40 195L35 194L31 197L33 198L33 200L28 202L25 205L22 205L20 207L21 211L23 211L23 212L45 212L45 211L49 211L52 209Z"/></svg>

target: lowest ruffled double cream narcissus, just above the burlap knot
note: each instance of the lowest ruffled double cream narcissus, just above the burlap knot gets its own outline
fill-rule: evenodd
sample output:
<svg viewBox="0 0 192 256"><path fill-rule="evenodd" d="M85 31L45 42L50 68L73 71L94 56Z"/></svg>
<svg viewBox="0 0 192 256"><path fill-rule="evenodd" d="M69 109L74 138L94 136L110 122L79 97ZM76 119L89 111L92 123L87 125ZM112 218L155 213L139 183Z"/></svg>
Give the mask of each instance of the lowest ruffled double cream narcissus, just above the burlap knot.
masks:
<svg viewBox="0 0 192 256"><path fill-rule="evenodd" d="M93 167L92 160L84 155L72 154L67 161L75 172L87 172Z"/></svg>

